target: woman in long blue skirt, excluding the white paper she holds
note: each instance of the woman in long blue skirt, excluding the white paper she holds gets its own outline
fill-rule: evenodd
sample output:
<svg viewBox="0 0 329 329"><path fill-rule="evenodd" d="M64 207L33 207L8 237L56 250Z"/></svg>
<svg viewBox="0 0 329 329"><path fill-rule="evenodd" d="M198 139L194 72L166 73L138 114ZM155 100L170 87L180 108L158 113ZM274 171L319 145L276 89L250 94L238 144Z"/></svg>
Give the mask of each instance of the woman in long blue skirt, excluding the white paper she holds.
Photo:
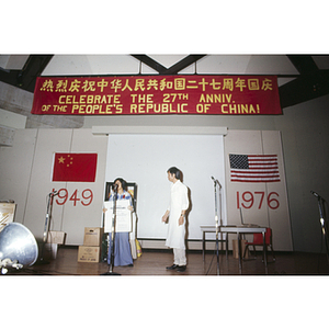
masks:
<svg viewBox="0 0 329 329"><path fill-rule="evenodd" d="M114 181L112 186L114 192L111 192L109 201L114 201L116 195L116 206L124 200L129 201L128 211L133 212L133 200L132 195L126 191L127 183L124 179L117 178ZM116 192L116 193L115 193ZM104 209L107 211L107 209ZM109 246L109 257L107 263L111 264L111 232L110 232L110 246ZM114 238L114 266L133 266L133 257L129 243L129 232L128 231L118 231L115 232Z"/></svg>

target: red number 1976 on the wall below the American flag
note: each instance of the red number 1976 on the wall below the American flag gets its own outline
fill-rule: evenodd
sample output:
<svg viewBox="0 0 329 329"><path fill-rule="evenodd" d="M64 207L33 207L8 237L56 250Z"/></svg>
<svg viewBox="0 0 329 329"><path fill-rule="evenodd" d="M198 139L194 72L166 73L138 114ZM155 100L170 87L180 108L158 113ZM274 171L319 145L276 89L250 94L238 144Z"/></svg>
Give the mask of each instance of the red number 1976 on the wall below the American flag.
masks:
<svg viewBox="0 0 329 329"><path fill-rule="evenodd" d="M264 196L265 196L265 192L253 192L252 193L250 191L246 191L246 192L241 193L241 196L240 196L240 192L237 191L237 208L240 208L242 206L243 208L249 209L253 206L256 198L259 198L258 208L260 209L262 207ZM276 192L271 192L268 195L266 203L271 209L279 208L280 202L279 202L277 197L279 197L279 194Z"/></svg>

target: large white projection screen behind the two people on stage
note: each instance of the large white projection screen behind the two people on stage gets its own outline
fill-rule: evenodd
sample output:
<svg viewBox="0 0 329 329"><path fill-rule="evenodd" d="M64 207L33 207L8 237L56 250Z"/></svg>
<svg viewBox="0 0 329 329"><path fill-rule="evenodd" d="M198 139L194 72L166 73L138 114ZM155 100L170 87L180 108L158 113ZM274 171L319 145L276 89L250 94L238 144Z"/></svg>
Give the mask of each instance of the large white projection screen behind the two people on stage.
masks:
<svg viewBox="0 0 329 329"><path fill-rule="evenodd" d="M166 238L161 223L170 196L167 170L175 166L190 189L192 208L188 239L201 239L200 225L215 225L214 183L222 190L222 216L226 224L224 141L222 135L110 135L105 180L124 178L137 190L137 237Z"/></svg>

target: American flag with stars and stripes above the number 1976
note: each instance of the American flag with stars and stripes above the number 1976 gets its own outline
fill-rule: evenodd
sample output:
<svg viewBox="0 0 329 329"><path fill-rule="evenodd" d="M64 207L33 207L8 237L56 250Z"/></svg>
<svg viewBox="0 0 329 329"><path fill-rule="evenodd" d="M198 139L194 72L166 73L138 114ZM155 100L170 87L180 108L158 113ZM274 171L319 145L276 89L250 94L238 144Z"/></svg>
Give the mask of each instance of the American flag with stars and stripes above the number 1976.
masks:
<svg viewBox="0 0 329 329"><path fill-rule="evenodd" d="M231 182L280 182L277 155L229 155L229 163Z"/></svg>

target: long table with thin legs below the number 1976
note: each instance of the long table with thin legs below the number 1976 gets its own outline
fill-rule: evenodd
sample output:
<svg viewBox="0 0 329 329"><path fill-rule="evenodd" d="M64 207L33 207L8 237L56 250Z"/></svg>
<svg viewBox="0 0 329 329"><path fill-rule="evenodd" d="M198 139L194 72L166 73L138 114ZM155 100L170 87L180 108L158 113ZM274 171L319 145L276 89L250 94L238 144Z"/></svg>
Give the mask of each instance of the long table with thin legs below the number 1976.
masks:
<svg viewBox="0 0 329 329"><path fill-rule="evenodd" d="M206 232L216 232L215 225L202 225L200 226L202 231L202 254L204 259L205 252L205 234ZM248 226L248 225L219 225L218 226L218 234L226 232L226 234L237 234L238 238L238 246L239 246L239 272L242 274L242 256L241 256L241 234L254 234L261 232L263 236L263 252L264 252L264 264L265 264L265 274L268 274L268 256L266 256L266 242L265 242L265 231L266 227L259 227L259 226ZM226 239L226 254L227 254L227 239Z"/></svg>

